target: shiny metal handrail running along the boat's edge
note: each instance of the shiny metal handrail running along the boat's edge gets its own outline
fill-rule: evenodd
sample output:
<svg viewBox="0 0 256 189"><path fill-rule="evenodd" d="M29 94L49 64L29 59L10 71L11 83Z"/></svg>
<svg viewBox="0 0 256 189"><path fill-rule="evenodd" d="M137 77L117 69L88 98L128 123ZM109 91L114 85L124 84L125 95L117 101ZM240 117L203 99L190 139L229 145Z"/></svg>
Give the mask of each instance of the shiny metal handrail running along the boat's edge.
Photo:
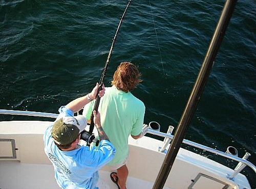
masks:
<svg viewBox="0 0 256 189"><path fill-rule="evenodd" d="M15 111L15 110L0 110L0 114L49 117L49 118L57 118L57 116L58 116L58 114L52 114L52 113L41 113L41 112L31 112L31 111ZM147 133L155 134L155 135L160 136L160 137L167 137L168 139L173 139L174 138L174 136L172 134L166 134L164 132L156 131L156 130L150 129L150 128L148 128ZM225 152L222 152L222 151L219 151L219 150L216 150L216 149L213 149L213 148L210 148L210 147L207 147L207 146L204 146L204 145L201 145L201 144L198 144L198 143L186 140L186 139L183 139L183 143L187 144L187 145L190 145L190 146L200 148L202 150L206 150L206 151L214 153L214 154L221 155L223 157L226 157L226 158L229 158L229 159L232 159L232 160L239 161L242 164L245 164L245 165L249 166L256 173L256 167L252 163L250 163L250 161L248 161L248 160L245 160L245 159L242 159L240 157L227 154Z"/></svg>

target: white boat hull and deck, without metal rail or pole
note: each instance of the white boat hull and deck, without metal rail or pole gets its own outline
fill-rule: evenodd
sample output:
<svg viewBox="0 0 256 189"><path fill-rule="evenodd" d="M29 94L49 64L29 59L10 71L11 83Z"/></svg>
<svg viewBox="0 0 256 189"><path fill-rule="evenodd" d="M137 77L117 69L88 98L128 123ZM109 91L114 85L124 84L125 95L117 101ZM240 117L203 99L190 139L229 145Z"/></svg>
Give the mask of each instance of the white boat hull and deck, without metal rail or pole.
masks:
<svg viewBox="0 0 256 189"><path fill-rule="evenodd" d="M0 188L58 188L42 140L49 124L45 121L0 122ZM15 141L16 158L3 158L14 154L13 145L7 139ZM152 188L165 157L165 153L158 151L163 142L149 137L129 138L129 146L127 188ZM117 188L110 179L111 171L108 166L100 170L102 188ZM204 156L180 148L165 188L251 188L247 178L240 173L232 180L228 179L227 174L233 172Z"/></svg>

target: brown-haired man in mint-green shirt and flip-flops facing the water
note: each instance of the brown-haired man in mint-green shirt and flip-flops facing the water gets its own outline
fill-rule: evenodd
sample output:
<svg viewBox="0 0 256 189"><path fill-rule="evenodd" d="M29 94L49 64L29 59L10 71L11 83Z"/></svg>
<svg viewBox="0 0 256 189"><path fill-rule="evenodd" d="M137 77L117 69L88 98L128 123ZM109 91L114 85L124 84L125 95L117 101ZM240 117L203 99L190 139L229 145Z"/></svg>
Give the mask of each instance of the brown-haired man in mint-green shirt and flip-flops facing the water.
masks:
<svg viewBox="0 0 256 189"><path fill-rule="evenodd" d="M145 105L131 93L142 82L140 76L134 64L122 62L114 73L112 87L105 87L98 107L102 127L116 148L115 157L108 164L117 170L111 173L111 179L121 189L126 187L128 177L128 137L131 134L134 139L139 139L147 131L147 125L143 127ZM88 120L93 107L94 103L84 106L83 115Z"/></svg>

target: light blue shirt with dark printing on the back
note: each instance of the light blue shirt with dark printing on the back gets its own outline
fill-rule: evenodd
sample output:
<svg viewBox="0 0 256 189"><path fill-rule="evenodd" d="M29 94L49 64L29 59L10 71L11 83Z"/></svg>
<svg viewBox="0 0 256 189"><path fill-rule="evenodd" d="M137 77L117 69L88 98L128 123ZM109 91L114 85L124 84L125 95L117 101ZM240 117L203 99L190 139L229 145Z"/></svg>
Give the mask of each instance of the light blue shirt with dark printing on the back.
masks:
<svg viewBox="0 0 256 189"><path fill-rule="evenodd" d="M60 107L59 116L74 116L65 106ZM44 134L45 153L54 166L55 178L62 188L95 188L99 175L98 170L113 159L115 147L107 140L99 146L80 146L71 151L61 151L54 144L51 136L53 125Z"/></svg>

